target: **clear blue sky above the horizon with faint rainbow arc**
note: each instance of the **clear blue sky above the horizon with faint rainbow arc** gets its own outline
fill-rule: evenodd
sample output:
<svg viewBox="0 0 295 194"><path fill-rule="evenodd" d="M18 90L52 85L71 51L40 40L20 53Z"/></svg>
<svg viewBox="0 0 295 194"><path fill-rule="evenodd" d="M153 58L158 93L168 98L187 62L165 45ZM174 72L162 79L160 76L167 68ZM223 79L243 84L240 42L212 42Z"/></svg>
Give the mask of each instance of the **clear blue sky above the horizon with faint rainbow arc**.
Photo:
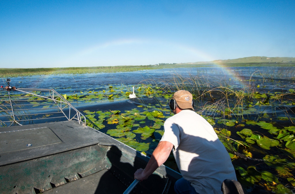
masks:
<svg viewBox="0 0 295 194"><path fill-rule="evenodd" d="M0 1L0 67L295 57L295 1Z"/></svg>

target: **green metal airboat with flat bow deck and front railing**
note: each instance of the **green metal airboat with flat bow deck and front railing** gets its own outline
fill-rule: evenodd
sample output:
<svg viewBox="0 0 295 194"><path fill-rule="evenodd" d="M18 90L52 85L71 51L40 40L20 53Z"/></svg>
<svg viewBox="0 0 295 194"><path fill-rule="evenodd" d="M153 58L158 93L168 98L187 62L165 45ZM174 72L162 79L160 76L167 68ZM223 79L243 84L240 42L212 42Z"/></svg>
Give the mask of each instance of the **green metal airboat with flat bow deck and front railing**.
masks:
<svg viewBox="0 0 295 194"><path fill-rule="evenodd" d="M149 160L86 126L53 89L10 87L0 108L0 193L123 193ZM132 193L174 193L179 178L162 165Z"/></svg>

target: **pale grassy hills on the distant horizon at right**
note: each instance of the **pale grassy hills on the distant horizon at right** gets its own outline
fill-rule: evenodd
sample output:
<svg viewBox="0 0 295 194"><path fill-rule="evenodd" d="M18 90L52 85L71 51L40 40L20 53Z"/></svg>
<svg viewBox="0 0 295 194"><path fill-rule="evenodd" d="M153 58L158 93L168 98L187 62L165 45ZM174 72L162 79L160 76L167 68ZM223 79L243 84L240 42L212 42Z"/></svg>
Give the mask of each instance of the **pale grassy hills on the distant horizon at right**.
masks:
<svg viewBox="0 0 295 194"><path fill-rule="evenodd" d="M295 63L295 57L243 57L238 59L214 60L185 64L232 64L232 63Z"/></svg>

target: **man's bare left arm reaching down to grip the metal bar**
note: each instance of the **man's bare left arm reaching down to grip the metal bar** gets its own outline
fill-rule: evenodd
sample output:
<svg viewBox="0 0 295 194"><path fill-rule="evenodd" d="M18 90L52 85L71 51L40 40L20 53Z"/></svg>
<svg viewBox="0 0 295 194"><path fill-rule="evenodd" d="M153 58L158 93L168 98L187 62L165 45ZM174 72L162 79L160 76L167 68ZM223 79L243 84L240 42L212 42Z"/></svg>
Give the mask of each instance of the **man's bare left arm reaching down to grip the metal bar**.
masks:
<svg viewBox="0 0 295 194"><path fill-rule="evenodd" d="M168 141L160 141L156 149L154 150L148 164L145 169L138 169L134 173L134 178L138 180L147 179L153 172L162 165L170 155L170 152L173 148L173 144Z"/></svg>

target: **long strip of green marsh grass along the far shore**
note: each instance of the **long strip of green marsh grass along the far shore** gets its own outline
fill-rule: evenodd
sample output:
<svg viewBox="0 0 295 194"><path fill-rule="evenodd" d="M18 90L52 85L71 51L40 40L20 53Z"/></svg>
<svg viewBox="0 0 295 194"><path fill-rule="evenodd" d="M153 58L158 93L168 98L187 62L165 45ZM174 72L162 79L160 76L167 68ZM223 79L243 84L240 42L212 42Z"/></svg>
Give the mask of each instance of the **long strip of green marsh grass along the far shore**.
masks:
<svg viewBox="0 0 295 194"><path fill-rule="evenodd" d="M225 64L159 64L146 66L101 66L101 67L60 67L60 68L0 68L1 76L19 77L47 74L85 74L85 73L115 73L132 72L149 69L179 68L179 67L295 67L291 63L225 63Z"/></svg>

